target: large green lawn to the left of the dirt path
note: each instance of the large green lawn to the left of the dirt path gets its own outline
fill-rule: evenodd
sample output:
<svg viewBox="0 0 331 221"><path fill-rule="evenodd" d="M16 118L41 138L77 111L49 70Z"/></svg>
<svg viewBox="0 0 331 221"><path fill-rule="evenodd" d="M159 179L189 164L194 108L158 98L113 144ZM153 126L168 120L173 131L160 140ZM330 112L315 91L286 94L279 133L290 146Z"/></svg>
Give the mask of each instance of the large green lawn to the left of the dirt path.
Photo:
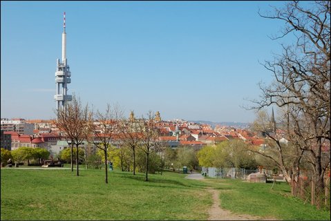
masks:
<svg viewBox="0 0 331 221"><path fill-rule="evenodd" d="M206 185L179 173L1 169L1 220L207 220Z"/></svg>

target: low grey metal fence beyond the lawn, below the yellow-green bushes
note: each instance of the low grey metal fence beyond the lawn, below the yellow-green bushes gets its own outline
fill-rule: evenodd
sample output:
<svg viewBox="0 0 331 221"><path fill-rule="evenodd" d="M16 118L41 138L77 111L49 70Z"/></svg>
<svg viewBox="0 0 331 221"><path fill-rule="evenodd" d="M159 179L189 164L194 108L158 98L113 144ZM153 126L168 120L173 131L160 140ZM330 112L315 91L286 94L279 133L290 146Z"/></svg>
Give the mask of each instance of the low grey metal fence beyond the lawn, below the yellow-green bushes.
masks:
<svg viewBox="0 0 331 221"><path fill-rule="evenodd" d="M246 180L247 176L251 173L257 173L258 169L247 170L243 168L215 168L215 167L202 167L202 173L206 173L209 177L214 178L232 178Z"/></svg>

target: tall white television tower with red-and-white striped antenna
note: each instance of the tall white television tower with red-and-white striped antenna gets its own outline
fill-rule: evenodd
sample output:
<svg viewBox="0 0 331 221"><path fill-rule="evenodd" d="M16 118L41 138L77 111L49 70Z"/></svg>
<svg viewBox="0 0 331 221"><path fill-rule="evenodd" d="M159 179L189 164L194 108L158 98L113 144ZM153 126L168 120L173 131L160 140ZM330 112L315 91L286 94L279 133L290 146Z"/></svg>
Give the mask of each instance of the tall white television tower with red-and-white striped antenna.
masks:
<svg viewBox="0 0 331 221"><path fill-rule="evenodd" d="M54 96L57 102L57 111L59 108L64 108L66 102L73 99L72 95L68 95L68 84L71 83L71 73L66 61L66 12L64 12L63 33L62 33L62 62L57 59L57 71L55 72L55 84L57 85L56 95Z"/></svg>

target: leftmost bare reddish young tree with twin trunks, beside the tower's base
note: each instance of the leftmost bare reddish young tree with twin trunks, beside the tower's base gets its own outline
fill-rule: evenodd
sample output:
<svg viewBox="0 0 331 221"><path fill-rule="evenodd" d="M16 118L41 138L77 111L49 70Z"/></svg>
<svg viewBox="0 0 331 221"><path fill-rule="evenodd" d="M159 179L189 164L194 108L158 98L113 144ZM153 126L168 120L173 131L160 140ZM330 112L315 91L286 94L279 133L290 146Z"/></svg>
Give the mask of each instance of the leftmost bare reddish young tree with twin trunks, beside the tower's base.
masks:
<svg viewBox="0 0 331 221"><path fill-rule="evenodd" d="M71 171L73 171L73 146L76 146L76 175L79 175L78 147L81 145L91 129L92 113L88 105L82 106L82 102L77 97L73 97L71 102L66 103L64 108L57 111L56 126L63 132L66 140L71 142Z"/></svg>

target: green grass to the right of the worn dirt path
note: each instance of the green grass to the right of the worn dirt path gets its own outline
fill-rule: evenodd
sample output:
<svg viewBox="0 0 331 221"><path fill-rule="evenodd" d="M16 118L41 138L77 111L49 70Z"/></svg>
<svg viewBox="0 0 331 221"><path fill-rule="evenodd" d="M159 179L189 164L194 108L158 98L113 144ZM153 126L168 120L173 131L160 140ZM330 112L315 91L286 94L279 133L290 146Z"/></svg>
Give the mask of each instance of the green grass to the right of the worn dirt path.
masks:
<svg viewBox="0 0 331 221"><path fill-rule="evenodd" d="M207 179L214 189L220 191L223 209L238 214L274 217L281 220L330 220L330 211L317 210L290 196L290 186L277 183L249 183L231 179Z"/></svg>

